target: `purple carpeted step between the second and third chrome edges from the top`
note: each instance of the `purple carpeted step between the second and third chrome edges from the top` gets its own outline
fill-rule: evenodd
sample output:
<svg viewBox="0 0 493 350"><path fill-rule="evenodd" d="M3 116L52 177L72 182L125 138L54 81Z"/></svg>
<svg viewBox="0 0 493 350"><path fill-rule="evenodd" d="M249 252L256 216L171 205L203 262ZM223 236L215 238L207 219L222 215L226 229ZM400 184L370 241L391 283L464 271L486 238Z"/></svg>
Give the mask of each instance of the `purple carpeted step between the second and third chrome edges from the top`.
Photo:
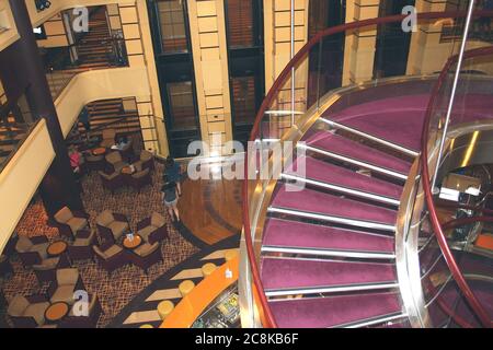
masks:
<svg viewBox="0 0 493 350"><path fill-rule="evenodd" d="M301 166L300 164L302 164L303 161L306 162L306 177L309 179L357 189L392 199L399 199L401 197L401 186L375 177L365 176L347 168L316 160L311 156L298 158L294 164L294 170L287 171L286 174L297 175Z"/></svg>

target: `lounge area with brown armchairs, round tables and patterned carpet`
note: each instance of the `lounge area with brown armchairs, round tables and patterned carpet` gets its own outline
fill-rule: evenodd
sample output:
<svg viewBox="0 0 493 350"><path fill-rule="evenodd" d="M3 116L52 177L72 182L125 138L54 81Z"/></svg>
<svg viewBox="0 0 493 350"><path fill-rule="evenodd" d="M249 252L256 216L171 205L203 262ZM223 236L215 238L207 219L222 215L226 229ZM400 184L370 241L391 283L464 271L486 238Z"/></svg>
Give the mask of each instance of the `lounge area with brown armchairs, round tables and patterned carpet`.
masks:
<svg viewBox="0 0 493 350"><path fill-rule="evenodd" d="M151 171L153 158L144 154L136 173L161 182L163 165ZM0 293L9 326L104 327L152 280L197 252L170 225L160 186L108 195L96 172L83 176L81 186L85 212L65 207L48 222L36 199L2 252ZM74 316L77 290L89 293L88 316ZM48 320L46 311L61 304L68 305L66 315Z"/></svg>

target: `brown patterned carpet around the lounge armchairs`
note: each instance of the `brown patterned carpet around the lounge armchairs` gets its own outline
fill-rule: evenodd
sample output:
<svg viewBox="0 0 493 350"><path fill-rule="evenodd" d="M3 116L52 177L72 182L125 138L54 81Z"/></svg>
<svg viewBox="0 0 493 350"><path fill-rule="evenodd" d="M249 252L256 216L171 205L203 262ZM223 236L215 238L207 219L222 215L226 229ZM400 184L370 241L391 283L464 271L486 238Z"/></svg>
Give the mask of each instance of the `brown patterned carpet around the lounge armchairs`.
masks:
<svg viewBox="0 0 493 350"><path fill-rule="evenodd" d="M199 250L182 237L165 214L164 207L160 200L163 165L158 163L156 165L153 185L142 188L140 194L133 189L123 188L117 190L115 195L112 195L102 188L96 173L91 173L82 179L82 200L87 212L91 215L93 228L95 228L96 215L105 209L126 214L133 229L138 221L157 211L167 218L170 232L170 237L163 242L161 247L163 261L152 266L148 276L138 267L127 265L115 270L110 280L106 271L100 268L96 262L74 262L89 293L96 293L100 298L104 314L101 316L98 327L107 326L113 317L140 291L170 268ZM46 224L46 220L47 215L41 200L35 200L21 219L16 232L19 235L46 235L50 240L54 237L59 238L57 229L49 228ZM46 291L47 284L38 285L34 272L24 270L16 257L12 257L11 262L14 268L14 275L0 283L0 288L3 290L8 301L16 294L30 295Z"/></svg>

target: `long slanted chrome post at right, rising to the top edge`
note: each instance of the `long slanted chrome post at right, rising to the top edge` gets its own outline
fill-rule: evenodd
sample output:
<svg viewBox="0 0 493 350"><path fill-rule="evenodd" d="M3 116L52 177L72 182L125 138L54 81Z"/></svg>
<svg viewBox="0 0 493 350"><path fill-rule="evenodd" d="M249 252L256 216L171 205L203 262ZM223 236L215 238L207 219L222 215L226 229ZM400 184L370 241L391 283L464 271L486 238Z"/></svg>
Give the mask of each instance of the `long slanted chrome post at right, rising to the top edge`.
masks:
<svg viewBox="0 0 493 350"><path fill-rule="evenodd" d="M444 152L445 139L447 137L448 125L450 122L450 115L451 115L451 110L454 108L454 101L455 101L455 97L456 97L457 84L459 82L460 69L462 67L462 60L463 60L463 51L466 50L466 44L467 44L467 40L468 40L469 26L471 24L471 18L472 18L473 9L474 9L474 0L469 0L468 15L466 18L466 25L465 25L465 28L463 28L462 42L460 43L459 57L458 57L458 60L457 60L456 72L454 74L454 83L452 83L452 88L451 88L451 92L450 92L450 100L448 101L447 115L445 117L444 129L442 131L442 139L440 139L440 144L439 144L439 151L438 151L438 154L437 154L438 159L437 159L437 162L436 162L436 165L435 165L435 171L433 173L432 190L434 190L434 191L435 191L435 185L436 185L436 177L437 177L437 174L438 174L438 168L439 168L439 165L440 165L440 162L442 162L442 153ZM426 174L423 174L423 175L426 175Z"/></svg>

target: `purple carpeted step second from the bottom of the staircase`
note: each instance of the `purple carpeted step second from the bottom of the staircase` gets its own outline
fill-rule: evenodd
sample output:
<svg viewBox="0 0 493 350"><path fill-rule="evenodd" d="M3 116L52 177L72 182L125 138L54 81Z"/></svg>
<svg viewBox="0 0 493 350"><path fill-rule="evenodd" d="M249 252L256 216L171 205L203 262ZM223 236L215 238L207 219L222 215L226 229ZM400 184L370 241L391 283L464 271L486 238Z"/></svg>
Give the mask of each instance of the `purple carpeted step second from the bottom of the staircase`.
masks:
<svg viewBox="0 0 493 350"><path fill-rule="evenodd" d="M392 264L263 257L265 291L395 282Z"/></svg>

